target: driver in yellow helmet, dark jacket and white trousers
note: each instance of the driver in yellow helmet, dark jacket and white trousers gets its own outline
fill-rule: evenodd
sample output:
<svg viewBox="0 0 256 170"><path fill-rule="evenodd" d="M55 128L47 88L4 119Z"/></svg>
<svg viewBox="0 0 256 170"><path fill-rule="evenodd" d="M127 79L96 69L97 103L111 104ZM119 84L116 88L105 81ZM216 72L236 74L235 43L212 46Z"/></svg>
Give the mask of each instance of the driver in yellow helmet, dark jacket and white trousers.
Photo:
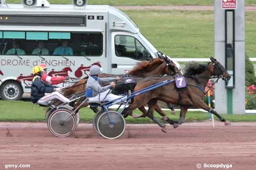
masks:
<svg viewBox="0 0 256 170"><path fill-rule="evenodd" d="M61 91L61 88L56 86L51 86L46 84L41 79L43 75L44 69L41 66L35 66L32 69L32 74L35 76L32 80L31 85L31 101L33 103L38 103L42 105L47 105L48 102L52 101L53 99L58 99L61 102L69 102L70 100L67 99L65 96L61 95L58 91ZM45 93L50 93L45 95Z"/></svg>

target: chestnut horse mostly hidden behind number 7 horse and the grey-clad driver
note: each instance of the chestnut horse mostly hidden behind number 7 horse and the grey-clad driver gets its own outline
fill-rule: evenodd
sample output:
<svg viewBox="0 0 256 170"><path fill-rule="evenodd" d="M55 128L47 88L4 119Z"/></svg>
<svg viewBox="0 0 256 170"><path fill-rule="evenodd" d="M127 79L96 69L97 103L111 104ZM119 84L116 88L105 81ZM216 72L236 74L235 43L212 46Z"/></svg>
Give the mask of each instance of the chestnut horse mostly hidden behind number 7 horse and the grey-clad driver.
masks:
<svg viewBox="0 0 256 170"><path fill-rule="evenodd" d="M151 61L142 61L134 69L132 69L129 73L131 76L136 76L136 78L145 78L143 76L154 76L154 75L176 75L181 74L180 70L176 68L175 64L169 60L167 57L162 57L159 55L158 58L155 58ZM117 75L109 75L109 74L100 74L99 77L116 77ZM76 84L73 85L74 88L67 88L63 91L64 96L69 96L72 94L80 93L85 91L85 86L87 82L87 77L78 81ZM61 102L57 102L56 105L61 104ZM80 103L77 103L76 106L79 106ZM87 103L80 106L80 108L88 106ZM75 107L76 108L76 107ZM79 108L79 109L80 109ZM144 107L139 108L143 115L133 115L134 117L146 117L147 110ZM161 110L160 106L156 106L156 112L158 112L166 121L170 119L166 116L166 114Z"/></svg>

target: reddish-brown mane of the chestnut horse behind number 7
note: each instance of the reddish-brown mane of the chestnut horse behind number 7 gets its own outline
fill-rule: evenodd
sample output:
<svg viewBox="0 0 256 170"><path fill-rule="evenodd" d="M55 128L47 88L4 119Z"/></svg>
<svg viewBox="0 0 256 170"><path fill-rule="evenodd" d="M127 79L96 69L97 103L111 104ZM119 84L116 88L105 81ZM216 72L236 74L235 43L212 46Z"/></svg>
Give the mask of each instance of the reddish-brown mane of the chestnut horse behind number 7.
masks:
<svg viewBox="0 0 256 170"><path fill-rule="evenodd" d="M150 62L144 60L142 62L139 62L131 71L130 71L130 75L140 75L141 73L145 72L145 71L151 71L152 69L154 69L155 64L160 65L161 63L163 63L163 60L161 60L160 58L155 58L153 60L151 60Z"/></svg>

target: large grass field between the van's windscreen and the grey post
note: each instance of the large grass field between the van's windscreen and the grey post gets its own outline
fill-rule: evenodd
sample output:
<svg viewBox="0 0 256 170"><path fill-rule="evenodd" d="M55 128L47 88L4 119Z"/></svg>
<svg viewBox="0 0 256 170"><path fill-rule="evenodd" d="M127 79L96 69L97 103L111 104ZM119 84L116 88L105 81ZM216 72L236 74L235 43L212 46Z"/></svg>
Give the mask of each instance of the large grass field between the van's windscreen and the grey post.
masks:
<svg viewBox="0 0 256 170"><path fill-rule="evenodd" d="M148 40L170 57L214 56L213 11L124 11Z"/></svg>

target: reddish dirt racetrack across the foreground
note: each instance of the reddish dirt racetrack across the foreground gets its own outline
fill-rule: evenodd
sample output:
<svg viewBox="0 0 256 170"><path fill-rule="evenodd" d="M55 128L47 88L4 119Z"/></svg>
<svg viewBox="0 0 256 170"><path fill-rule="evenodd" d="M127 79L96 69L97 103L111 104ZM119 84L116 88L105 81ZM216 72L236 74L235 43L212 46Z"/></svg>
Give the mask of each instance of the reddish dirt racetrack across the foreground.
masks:
<svg viewBox="0 0 256 170"><path fill-rule="evenodd" d="M79 124L70 137L50 134L46 123L0 123L0 170L194 170L200 163L256 169L256 123L185 123L163 133L155 124L128 124L120 139ZM15 169L15 168L7 168ZM223 169L223 168L218 168Z"/></svg>

